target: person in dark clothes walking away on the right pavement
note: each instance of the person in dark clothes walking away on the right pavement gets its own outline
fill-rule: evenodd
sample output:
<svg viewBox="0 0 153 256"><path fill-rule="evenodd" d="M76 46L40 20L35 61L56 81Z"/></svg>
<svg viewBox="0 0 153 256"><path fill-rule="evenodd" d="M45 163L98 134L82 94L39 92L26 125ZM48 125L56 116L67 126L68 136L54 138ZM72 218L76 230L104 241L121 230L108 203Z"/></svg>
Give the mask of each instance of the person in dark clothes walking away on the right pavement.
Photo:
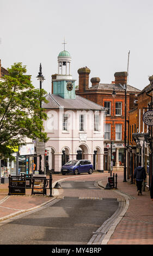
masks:
<svg viewBox="0 0 153 256"><path fill-rule="evenodd" d="M134 170L134 179L136 179L137 193L142 195L142 182L146 179L145 168L141 167L141 163L138 163L138 167Z"/></svg>

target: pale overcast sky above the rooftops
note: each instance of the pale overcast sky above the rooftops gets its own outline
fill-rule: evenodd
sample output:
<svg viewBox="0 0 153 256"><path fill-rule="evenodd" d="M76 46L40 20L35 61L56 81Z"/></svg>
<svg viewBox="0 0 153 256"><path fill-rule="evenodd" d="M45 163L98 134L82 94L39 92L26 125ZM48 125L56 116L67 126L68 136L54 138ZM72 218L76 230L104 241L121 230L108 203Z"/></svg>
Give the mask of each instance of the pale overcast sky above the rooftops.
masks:
<svg viewBox="0 0 153 256"><path fill-rule="evenodd" d="M39 88L39 65L51 92L57 57L65 50L72 57L71 75L87 66L100 83L114 81L127 71L128 84L142 90L153 74L152 0L0 0L0 59L4 68L21 62Z"/></svg>

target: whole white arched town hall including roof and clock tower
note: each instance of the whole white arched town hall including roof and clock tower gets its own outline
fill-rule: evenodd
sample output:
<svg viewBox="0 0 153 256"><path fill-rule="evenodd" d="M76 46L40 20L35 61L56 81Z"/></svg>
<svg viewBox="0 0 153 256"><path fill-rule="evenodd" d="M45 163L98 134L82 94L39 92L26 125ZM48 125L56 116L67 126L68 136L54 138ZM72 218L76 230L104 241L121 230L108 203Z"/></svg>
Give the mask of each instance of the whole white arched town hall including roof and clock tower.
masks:
<svg viewBox="0 0 153 256"><path fill-rule="evenodd" d="M48 103L42 103L50 138L45 143L48 171L60 173L65 162L88 159L103 172L105 108L75 94L70 72L71 56L64 50L58 55L58 74L52 75L52 94L46 95Z"/></svg>

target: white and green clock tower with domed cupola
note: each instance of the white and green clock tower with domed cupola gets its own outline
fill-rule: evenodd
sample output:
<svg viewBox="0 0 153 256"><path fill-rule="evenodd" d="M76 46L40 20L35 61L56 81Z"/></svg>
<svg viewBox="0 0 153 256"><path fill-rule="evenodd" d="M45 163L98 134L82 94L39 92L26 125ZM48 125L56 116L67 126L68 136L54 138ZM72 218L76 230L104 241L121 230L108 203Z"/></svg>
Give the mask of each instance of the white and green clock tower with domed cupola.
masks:
<svg viewBox="0 0 153 256"><path fill-rule="evenodd" d="M68 51L64 51L58 55L58 74L52 76L53 94L57 94L64 99L75 99L75 81L71 75L71 56Z"/></svg>

